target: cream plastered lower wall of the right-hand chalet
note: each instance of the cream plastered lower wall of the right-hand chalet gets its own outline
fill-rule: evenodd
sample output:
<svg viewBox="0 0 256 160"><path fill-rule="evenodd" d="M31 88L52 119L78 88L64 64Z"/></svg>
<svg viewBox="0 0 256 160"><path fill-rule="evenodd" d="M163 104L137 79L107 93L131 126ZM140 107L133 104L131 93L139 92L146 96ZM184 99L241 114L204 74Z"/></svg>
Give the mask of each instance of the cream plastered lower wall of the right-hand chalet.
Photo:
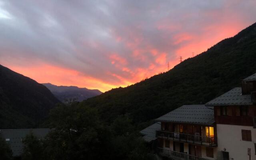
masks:
<svg viewBox="0 0 256 160"><path fill-rule="evenodd" d="M251 130L252 142L242 140L242 130ZM252 126L238 126L217 124L218 151L229 152L229 158L234 160L249 160L248 148L251 148L251 160L256 160L254 143L256 143L256 129Z"/></svg>

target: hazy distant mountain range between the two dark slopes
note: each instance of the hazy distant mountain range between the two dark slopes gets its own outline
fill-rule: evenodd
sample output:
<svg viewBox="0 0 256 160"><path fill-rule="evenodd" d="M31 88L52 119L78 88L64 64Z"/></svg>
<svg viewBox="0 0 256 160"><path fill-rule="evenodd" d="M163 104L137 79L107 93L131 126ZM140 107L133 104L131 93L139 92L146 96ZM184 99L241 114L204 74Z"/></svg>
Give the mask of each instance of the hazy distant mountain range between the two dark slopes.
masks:
<svg viewBox="0 0 256 160"><path fill-rule="evenodd" d="M50 83L43 83L58 100L65 102L66 100L75 99L78 102L86 100L94 96L102 94L100 90L90 90L87 88L78 88L76 86L56 86Z"/></svg>

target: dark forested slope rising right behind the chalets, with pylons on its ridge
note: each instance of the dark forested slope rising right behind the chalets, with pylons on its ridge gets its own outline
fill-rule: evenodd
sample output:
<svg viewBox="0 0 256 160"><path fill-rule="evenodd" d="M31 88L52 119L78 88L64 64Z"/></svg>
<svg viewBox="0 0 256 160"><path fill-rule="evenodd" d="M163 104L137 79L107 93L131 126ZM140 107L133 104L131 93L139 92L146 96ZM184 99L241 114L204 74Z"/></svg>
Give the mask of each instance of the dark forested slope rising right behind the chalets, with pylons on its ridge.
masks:
<svg viewBox="0 0 256 160"><path fill-rule="evenodd" d="M256 24L168 72L85 100L106 122L128 114L138 124L184 104L204 104L256 72Z"/></svg>

